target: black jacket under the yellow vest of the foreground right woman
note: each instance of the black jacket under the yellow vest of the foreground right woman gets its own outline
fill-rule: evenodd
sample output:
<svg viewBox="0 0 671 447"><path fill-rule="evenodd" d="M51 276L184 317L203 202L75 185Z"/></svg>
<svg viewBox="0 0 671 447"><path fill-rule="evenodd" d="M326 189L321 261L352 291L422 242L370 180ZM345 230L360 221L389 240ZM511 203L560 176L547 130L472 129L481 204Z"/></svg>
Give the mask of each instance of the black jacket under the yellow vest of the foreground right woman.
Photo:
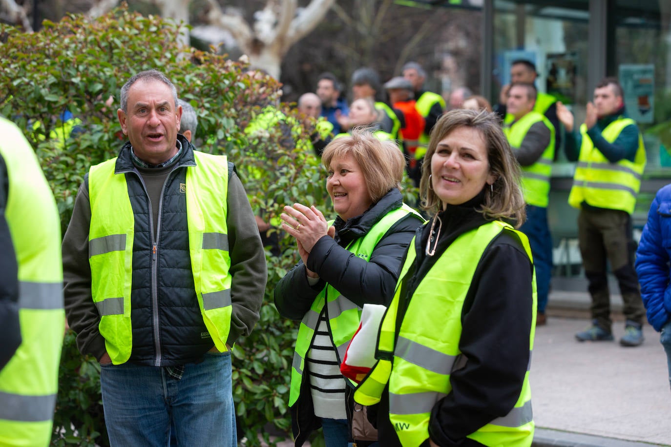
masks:
<svg viewBox="0 0 671 447"><path fill-rule="evenodd" d="M442 231L432 257L425 255L431 225L417 232L417 258L405 277L403 296L412 296L427 271L459 235L486 222L476 211L482 197L481 192L469 202L448 206L440 213ZM531 262L515 233L504 231L484 251L462 309L459 348L466 363L452 372L452 391L431 411L429 436L435 444L480 446L466 436L505 416L515 406L529 363L531 275ZM407 302L402 301L399 319L405 310ZM388 389L368 415L376 418L380 445L401 446L389 422ZM429 440L422 445L428 446Z"/></svg>

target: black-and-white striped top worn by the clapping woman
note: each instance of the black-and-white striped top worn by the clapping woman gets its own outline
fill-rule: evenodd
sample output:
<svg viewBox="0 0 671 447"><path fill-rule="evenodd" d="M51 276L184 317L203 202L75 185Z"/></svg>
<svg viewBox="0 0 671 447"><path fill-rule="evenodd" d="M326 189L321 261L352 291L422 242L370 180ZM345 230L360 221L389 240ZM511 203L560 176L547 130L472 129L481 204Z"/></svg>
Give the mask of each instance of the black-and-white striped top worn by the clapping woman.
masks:
<svg viewBox="0 0 671 447"><path fill-rule="evenodd" d="M324 308L325 309L325 308ZM312 345L307 351L310 392L315 416L328 419L346 419L345 379L340 373L338 357L329 334L325 311L322 310Z"/></svg>

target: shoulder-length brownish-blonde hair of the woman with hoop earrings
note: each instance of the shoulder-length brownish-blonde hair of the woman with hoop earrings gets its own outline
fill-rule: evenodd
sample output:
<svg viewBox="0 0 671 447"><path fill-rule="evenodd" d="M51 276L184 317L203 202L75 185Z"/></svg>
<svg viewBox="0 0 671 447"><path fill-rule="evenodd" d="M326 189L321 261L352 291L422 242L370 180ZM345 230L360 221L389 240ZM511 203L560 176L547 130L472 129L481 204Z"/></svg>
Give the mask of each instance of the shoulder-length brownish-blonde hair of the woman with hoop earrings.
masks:
<svg viewBox="0 0 671 447"><path fill-rule="evenodd" d="M470 127L480 132L486 143L489 172L495 178L491 188L485 184L484 203L478 211L488 220L506 220L519 228L526 218L524 196L519 187L521 171L496 113L455 109L445 113L435 123L421 168L419 195L422 208L431 214L442 210L442 201L429 188L431 157L438 143L459 127Z"/></svg>

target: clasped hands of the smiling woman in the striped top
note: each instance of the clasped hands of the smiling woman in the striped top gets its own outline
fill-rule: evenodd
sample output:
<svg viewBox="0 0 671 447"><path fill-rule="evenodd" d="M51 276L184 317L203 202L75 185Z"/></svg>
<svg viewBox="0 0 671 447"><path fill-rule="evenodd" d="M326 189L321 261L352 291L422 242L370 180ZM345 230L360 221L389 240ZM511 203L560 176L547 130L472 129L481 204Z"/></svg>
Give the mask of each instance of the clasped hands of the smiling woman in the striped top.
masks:
<svg viewBox="0 0 671 447"><path fill-rule="evenodd" d="M329 227L328 222L321 211L314 205L307 207L295 203L293 206L285 206L285 212L280 214L284 220L282 227L295 237L298 252L305 264L305 270L309 277L317 278L317 273L307 268L307 257L315 246L315 243L324 236L335 236L335 228Z"/></svg>

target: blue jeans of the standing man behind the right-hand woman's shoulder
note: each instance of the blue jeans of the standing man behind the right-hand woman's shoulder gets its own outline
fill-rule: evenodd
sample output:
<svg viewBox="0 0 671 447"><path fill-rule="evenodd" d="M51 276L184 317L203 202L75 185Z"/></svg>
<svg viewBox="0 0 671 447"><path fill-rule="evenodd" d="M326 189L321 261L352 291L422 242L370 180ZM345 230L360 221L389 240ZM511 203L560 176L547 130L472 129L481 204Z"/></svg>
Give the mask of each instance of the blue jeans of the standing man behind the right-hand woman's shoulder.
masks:
<svg viewBox="0 0 671 447"><path fill-rule="evenodd" d="M527 220L519 230L529 238L533 267L536 270L538 312L544 314L552 277L552 236L548 227L548 208L527 205Z"/></svg>

